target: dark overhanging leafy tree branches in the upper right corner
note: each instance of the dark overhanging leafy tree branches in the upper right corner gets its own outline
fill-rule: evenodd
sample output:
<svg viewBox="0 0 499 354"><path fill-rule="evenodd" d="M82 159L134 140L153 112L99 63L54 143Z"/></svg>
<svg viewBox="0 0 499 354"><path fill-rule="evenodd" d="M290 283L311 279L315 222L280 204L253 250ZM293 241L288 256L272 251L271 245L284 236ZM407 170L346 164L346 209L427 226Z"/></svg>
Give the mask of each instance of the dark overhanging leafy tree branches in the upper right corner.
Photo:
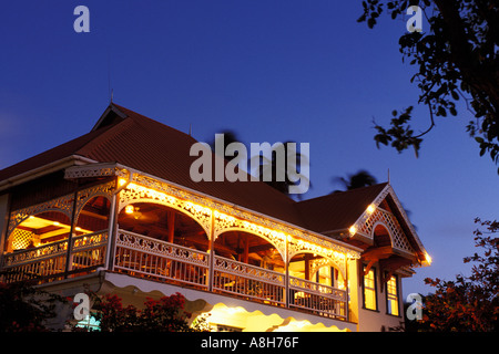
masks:
<svg viewBox="0 0 499 354"><path fill-rule="evenodd" d="M467 131L479 144L480 156L489 153L499 163L499 3L497 0L365 0L358 22L374 28L386 11L391 19L408 20L409 6L419 6L427 21L422 30L399 39L403 60L417 70L410 79L420 94L418 104L429 112L428 128L415 133L413 106L394 110L390 127L375 124L376 145L390 144L398 152L419 152L422 136L437 117L456 116L456 103L464 100L475 118ZM499 173L499 169L498 169Z"/></svg>

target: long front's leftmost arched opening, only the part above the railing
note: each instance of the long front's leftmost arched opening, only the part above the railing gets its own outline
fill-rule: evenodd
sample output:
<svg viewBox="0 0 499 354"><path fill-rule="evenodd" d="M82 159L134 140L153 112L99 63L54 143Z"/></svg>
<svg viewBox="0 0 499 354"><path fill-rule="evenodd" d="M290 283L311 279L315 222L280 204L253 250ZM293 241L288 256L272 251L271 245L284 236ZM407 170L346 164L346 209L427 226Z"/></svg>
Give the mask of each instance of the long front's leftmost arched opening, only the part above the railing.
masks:
<svg viewBox="0 0 499 354"><path fill-rule="evenodd" d="M118 225L121 230L200 251L210 247L206 232L194 219L160 204L130 204L120 211Z"/></svg>

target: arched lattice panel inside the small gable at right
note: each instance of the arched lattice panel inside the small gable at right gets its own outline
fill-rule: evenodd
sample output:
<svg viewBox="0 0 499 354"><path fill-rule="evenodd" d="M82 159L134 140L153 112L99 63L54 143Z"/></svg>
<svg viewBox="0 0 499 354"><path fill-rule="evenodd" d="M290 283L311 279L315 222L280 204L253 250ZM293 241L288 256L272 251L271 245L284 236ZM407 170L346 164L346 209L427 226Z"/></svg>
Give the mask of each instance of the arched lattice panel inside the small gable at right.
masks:
<svg viewBox="0 0 499 354"><path fill-rule="evenodd" d="M393 214L380 208L376 208L376 211L373 212L373 215L359 228L359 232L369 238L373 238L374 227L377 222L381 222L388 229L391 239L391 246L395 249L407 251L410 253L414 252L414 249L407 240L407 237L405 236L400 223L398 223L397 218Z"/></svg>

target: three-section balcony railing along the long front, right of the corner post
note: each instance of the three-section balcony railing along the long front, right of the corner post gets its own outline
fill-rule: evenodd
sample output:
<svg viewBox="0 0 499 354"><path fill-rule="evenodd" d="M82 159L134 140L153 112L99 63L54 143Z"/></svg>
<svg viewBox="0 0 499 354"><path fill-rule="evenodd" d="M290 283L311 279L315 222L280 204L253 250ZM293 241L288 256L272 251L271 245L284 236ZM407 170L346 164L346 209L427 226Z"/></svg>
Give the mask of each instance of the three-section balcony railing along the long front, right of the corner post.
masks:
<svg viewBox="0 0 499 354"><path fill-rule="evenodd" d="M210 277L210 253L130 231L118 232L113 269L133 277L194 285L328 317L347 317L344 290L295 277L288 277L286 287L284 273L220 256L214 256L213 275Z"/></svg>

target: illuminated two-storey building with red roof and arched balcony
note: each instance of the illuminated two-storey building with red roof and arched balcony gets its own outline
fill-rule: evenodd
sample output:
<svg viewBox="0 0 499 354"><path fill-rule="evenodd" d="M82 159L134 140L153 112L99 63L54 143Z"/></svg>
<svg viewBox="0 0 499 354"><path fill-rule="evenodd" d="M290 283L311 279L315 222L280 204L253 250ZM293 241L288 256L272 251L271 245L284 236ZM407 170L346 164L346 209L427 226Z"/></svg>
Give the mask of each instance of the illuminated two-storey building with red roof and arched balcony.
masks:
<svg viewBox="0 0 499 354"><path fill-rule="evenodd" d="M388 183L303 201L195 183L195 142L111 104L90 133L0 170L2 281L135 305L180 292L218 331L403 321L401 279L430 258Z"/></svg>

